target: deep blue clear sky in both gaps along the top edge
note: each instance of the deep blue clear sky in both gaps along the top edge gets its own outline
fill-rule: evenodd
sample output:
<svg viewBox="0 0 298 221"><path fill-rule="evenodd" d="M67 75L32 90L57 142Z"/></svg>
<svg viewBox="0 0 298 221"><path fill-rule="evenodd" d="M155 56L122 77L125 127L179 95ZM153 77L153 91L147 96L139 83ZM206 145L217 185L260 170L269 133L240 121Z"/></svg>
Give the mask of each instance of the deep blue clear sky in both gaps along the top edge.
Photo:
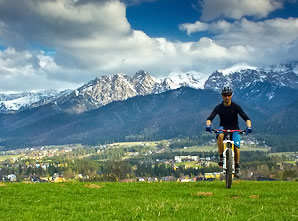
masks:
<svg viewBox="0 0 298 221"><path fill-rule="evenodd" d="M127 19L133 29L142 30L150 37L165 37L172 41L196 41L201 37L212 37L212 34L203 32L188 36L185 32L181 32L178 26L199 20L201 10L200 1L197 0L159 0L127 7ZM297 17L297 12L297 3L284 1L282 8L272 11L266 18L249 17L249 19L259 21L277 17L287 19Z"/></svg>

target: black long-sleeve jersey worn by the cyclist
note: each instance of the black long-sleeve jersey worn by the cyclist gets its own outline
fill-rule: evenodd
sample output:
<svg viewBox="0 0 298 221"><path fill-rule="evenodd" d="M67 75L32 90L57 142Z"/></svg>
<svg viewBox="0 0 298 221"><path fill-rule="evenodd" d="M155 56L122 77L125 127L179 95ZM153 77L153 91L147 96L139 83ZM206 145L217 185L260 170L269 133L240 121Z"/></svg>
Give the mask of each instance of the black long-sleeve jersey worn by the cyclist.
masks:
<svg viewBox="0 0 298 221"><path fill-rule="evenodd" d="M239 130L238 114L244 121L250 120L242 108L234 102L230 106L225 106L223 102L217 105L207 120L212 121L217 114L220 119L219 126L223 126L224 129Z"/></svg>

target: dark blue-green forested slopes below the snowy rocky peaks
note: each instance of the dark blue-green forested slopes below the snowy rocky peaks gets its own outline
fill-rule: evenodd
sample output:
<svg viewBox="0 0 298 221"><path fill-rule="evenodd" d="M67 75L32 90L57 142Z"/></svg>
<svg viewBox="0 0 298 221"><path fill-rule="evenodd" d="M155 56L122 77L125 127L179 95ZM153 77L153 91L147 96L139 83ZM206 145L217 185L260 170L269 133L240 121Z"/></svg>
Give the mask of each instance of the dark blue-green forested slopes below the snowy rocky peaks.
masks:
<svg viewBox="0 0 298 221"><path fill-rule="evenodd" d="M279 138L274 138L274 141L271 134L282 130L283 136L288 136L292 142L292 146L287 145L287 148L295 150L297 130L280 130L279 127L290 128L292 122L297 120L297 103L284 105L284 108L276 108L275 103L269 103L268 108L271 109L266 112L263 103L258 104L257 100L253 105L252 101L246 103L239 97L234 101L251 117L254 136L280 145L282 137L275 134ZM59 110L54 103L47 104L17 114L0 115L1 146L99 144L206 136L206 118L220 102L221 96L215 91L182 87L161 94L112 102L82 114L68 114ZM215 119L214 127L217 122L218 119Z"/></svg>

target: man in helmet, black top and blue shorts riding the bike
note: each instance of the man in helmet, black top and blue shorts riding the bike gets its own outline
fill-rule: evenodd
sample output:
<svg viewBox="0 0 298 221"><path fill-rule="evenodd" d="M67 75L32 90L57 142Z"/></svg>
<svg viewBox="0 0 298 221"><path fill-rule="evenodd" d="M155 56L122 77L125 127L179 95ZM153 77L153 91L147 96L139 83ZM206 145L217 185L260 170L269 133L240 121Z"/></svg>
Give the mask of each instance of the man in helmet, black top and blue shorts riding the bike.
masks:
<svg viewBox="0 0 298 221"><path fill-rule="evenodd" d="M247 114L242 110L242 108L232 102L233 90L229 86L225 86L221 91L223 102L217 105L210 116L206 121L206 131L212 133L211 123L214 117L218 114L220 118L219 129L229 129L229 130L239 130L238 125L238 114L242 117L242 119L246 122L246 134L251 133L251 120L247 116ZM223 140L224 134L223 132L219 132L216 135L218 152L219 152L219 162L218 165L223 165ZM240 175L240 134L239 132L234 132L232 136L232 140L235 145L235 176L239 177Z"/></svg>

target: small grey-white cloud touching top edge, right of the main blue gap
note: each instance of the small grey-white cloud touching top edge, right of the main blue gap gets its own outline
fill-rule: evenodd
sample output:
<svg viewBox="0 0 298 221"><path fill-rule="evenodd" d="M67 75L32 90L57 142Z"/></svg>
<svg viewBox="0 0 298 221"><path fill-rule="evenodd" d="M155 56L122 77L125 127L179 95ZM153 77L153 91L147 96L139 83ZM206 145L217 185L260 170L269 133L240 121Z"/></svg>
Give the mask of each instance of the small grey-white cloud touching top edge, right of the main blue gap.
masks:
<svg viewBox="0 0 298 221"><path fill-rule="evenodd" d="M202 21L210 21L225 17L240 19L244 16L256 16L259 18L283 7L281 0L203 0Z"/></svg>

